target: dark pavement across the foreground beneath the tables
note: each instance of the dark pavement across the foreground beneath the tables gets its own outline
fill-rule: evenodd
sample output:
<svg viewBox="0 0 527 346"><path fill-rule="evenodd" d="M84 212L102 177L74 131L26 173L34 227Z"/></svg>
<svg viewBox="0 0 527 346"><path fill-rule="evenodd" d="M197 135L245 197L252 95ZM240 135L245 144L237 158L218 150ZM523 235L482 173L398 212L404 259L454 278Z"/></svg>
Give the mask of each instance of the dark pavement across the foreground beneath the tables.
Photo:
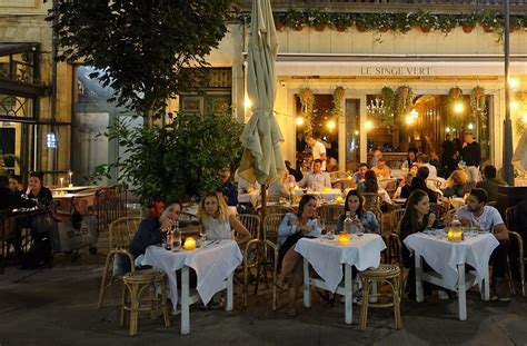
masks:
<svg viewBox="0 0 527 346"><path fill-rule="evenodd" d="M281 308L272 312L270 293L249 297L242 310L239 287L235 312L191 309L191 334L179 335L179 316L172 327L145 316L139 335L130 338L119 327L120 289L116 285L105 307L97 309L97 295L105 249L82 253L79 261L58 255L51 268L20 270L8 267L0 276L0 345L527 345L527 299L509 304L483 303L476 291L468 294L468 320L457 319L457 304L438 300L404 301L404 329L392 329L390 309L372 309L368 329L358 330L359 308L354 325L344 324L344 304L314 294L314 307L289 318ZM280 296L281 306L286 296ZM301 301L298 301L300 306Z"/></svg>

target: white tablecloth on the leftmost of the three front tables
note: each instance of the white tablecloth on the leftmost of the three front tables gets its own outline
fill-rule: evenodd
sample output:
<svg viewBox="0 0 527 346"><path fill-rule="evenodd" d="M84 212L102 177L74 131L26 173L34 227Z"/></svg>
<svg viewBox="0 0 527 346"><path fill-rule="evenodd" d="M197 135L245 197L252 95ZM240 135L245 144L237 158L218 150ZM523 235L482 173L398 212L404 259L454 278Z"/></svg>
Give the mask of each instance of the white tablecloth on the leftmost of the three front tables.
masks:
<svg viewBox="0 0 527 346"><path fill-rule="evenodd" d="M149 246L145 256L139 256L136 264L152 266L167 273L169 294L176 309L178 303L178 281L176 270L183 266L192 268L198 276L198 294L203 304L208 304L219 291L225 279L241 264L241 251L233 240L221 240L219 244L195 250L172 253L159 246Z"/></svg>

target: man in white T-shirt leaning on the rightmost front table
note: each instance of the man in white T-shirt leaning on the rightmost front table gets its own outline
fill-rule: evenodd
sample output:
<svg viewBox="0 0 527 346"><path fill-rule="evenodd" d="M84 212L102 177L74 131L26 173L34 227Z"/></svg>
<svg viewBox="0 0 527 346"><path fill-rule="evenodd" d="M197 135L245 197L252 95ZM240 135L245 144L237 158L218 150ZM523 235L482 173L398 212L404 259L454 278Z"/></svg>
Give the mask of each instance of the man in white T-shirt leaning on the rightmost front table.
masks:
<svg viewBox="0 0 527 346"><path fill-rule="evenodd" d="M490 206L486 206L487 192L484 189L474 188L467 197L467 204L456 212L463 226L475 226L480 229L490 230L499 241L497 248L490 255L493 260L493 287L495 296L500 301L510 300L510 289L505 281L507 268L507 240L509 239L507 227L499 215L499 211Z"/></svg>

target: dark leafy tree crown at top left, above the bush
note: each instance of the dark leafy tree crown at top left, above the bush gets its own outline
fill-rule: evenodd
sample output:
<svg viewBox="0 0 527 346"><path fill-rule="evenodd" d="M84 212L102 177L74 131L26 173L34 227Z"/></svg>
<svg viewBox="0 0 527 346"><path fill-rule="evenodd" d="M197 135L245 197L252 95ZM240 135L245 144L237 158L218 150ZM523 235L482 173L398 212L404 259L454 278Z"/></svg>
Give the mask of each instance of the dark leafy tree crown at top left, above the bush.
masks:
<svg viewBox="0 0 527 346"><path fill-rule="evenodd" d="M115 89L109 101L139 111L145 122L188 89L187 67L207 65L227 27L231 0L56 0L58 59L82 61Z"/></svg>

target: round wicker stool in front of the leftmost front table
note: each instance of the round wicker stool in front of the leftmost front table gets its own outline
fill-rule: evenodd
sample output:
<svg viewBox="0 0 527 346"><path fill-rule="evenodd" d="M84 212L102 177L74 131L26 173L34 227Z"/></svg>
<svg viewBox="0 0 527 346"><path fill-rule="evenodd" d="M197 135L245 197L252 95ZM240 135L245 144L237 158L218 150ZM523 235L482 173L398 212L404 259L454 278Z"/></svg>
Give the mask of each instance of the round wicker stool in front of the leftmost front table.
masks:
<svg viewBox="0 0 527 346"><path fill-rule="evenodd" d="M140 312L150 312L151 318L156 319L158 310L161 308L165 327L170 327L166 277L165 271L159 269L131 271L122 277L121 327L125 326L125 313L128 310L130 312L130 336L137 335ZM160 301L156 296L157 287L161 293ZM150 294L149 298L145 298L146 293ZM130 301L128 301L128 297Z"/></svg>

